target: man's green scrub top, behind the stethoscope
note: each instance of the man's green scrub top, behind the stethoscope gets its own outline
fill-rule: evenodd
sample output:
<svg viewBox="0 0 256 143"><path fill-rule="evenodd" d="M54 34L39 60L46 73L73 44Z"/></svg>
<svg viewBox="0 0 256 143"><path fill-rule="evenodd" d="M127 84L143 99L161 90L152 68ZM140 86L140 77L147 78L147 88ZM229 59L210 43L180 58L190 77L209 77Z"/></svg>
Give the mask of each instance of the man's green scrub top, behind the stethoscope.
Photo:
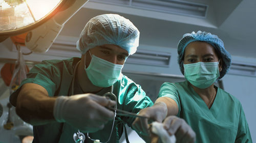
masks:
<svg viewBox="0 0 256 143"><path fill-rule="evenodd" d="M70 96L71 81L74 76L75 65L80 61L80 58L71 58L67 60L49 60L35 65L27 74L27 78L22 81L20 87L25 83L36 83L44 87L49 96ZM75 79L74 94L82 94L82 90ZM136 84L131 79L122 75L113 85L113 93L117 96L117 108L129 112L138 113L140 109L152 106L153 102L145 95L140 85ZM16 106L16 98L19 93L17 89L11 96L10 102ZM110 92L110 88L105 88L98 93L103 95ZM35 95L36 96L36 95ZM84 109L87 110L87 109ZM135 118L121 117L122 121L131 127ZM108 122L105 127L95 133L90 133L93 139L106 141L109 138L113 121ZM74 142L73 134L78 129L67 123L49 123L41 126L33 126L34 140L33 142L48 142L48 143L70 143ZM81 131L82 132L82 131ZM113 133L109 142L119 142L119 138L123 132L123 126L120 121L115 121ZM86 134L86 132L83 132ZM85 142L93 142L86 139Z"/></svg>

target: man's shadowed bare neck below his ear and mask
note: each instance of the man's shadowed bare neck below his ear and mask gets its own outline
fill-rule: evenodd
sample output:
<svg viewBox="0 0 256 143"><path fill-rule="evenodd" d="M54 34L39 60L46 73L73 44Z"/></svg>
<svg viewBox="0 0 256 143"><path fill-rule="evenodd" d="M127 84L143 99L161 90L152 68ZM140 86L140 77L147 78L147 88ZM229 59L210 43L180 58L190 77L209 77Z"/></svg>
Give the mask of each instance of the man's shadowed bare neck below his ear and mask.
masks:
<svg viewBox="0 0 256 143"><path fill-rule="evenodd" d="M95 86L87 77L86 70L84 70L84 60L81 60L77 67L78 83L83 93L97 93L103 88Z"/></svg>

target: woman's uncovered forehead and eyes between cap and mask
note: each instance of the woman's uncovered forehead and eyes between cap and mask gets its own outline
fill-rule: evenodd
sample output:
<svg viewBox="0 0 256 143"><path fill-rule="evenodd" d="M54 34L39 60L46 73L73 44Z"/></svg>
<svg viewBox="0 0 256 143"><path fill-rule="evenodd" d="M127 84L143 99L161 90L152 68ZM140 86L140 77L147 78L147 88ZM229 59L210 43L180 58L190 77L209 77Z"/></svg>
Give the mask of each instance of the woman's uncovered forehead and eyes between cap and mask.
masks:
<svg viewBox="0 0 256 143"><path fill-rule="evenodd" d="M219 58L215 48L201 41L189 43L184 50L184 64L192 64L197 62L218 62ZM220 61L219 69L222 70L222 61Z"/></svg>

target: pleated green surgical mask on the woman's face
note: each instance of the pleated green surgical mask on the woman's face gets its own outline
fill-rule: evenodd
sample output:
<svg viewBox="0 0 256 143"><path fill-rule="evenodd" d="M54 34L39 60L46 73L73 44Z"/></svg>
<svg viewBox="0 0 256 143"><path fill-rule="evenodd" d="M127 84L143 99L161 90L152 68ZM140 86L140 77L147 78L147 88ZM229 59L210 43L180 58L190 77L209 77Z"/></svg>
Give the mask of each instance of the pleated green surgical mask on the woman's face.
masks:
<svg viewBox="0 0 256 143"><path fill-rule="evenodd" d="M195 87L206 89L220 76L219 62L183 64L185 78Z"/></svg>

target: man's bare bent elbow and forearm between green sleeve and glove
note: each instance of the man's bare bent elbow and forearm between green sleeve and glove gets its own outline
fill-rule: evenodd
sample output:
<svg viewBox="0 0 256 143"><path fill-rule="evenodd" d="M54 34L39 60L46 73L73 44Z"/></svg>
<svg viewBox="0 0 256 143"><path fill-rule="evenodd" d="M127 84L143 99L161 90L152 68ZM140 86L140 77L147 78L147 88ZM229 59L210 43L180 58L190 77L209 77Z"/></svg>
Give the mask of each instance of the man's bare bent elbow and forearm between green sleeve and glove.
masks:
<svg viewBox="0 0 256 143"><path fill-rule="evenodd" d="M55 100L56 97L49 97L47 90L41 85L26 83L17 96L17 115L32 125L55 122L53 117Z"/></svg>

